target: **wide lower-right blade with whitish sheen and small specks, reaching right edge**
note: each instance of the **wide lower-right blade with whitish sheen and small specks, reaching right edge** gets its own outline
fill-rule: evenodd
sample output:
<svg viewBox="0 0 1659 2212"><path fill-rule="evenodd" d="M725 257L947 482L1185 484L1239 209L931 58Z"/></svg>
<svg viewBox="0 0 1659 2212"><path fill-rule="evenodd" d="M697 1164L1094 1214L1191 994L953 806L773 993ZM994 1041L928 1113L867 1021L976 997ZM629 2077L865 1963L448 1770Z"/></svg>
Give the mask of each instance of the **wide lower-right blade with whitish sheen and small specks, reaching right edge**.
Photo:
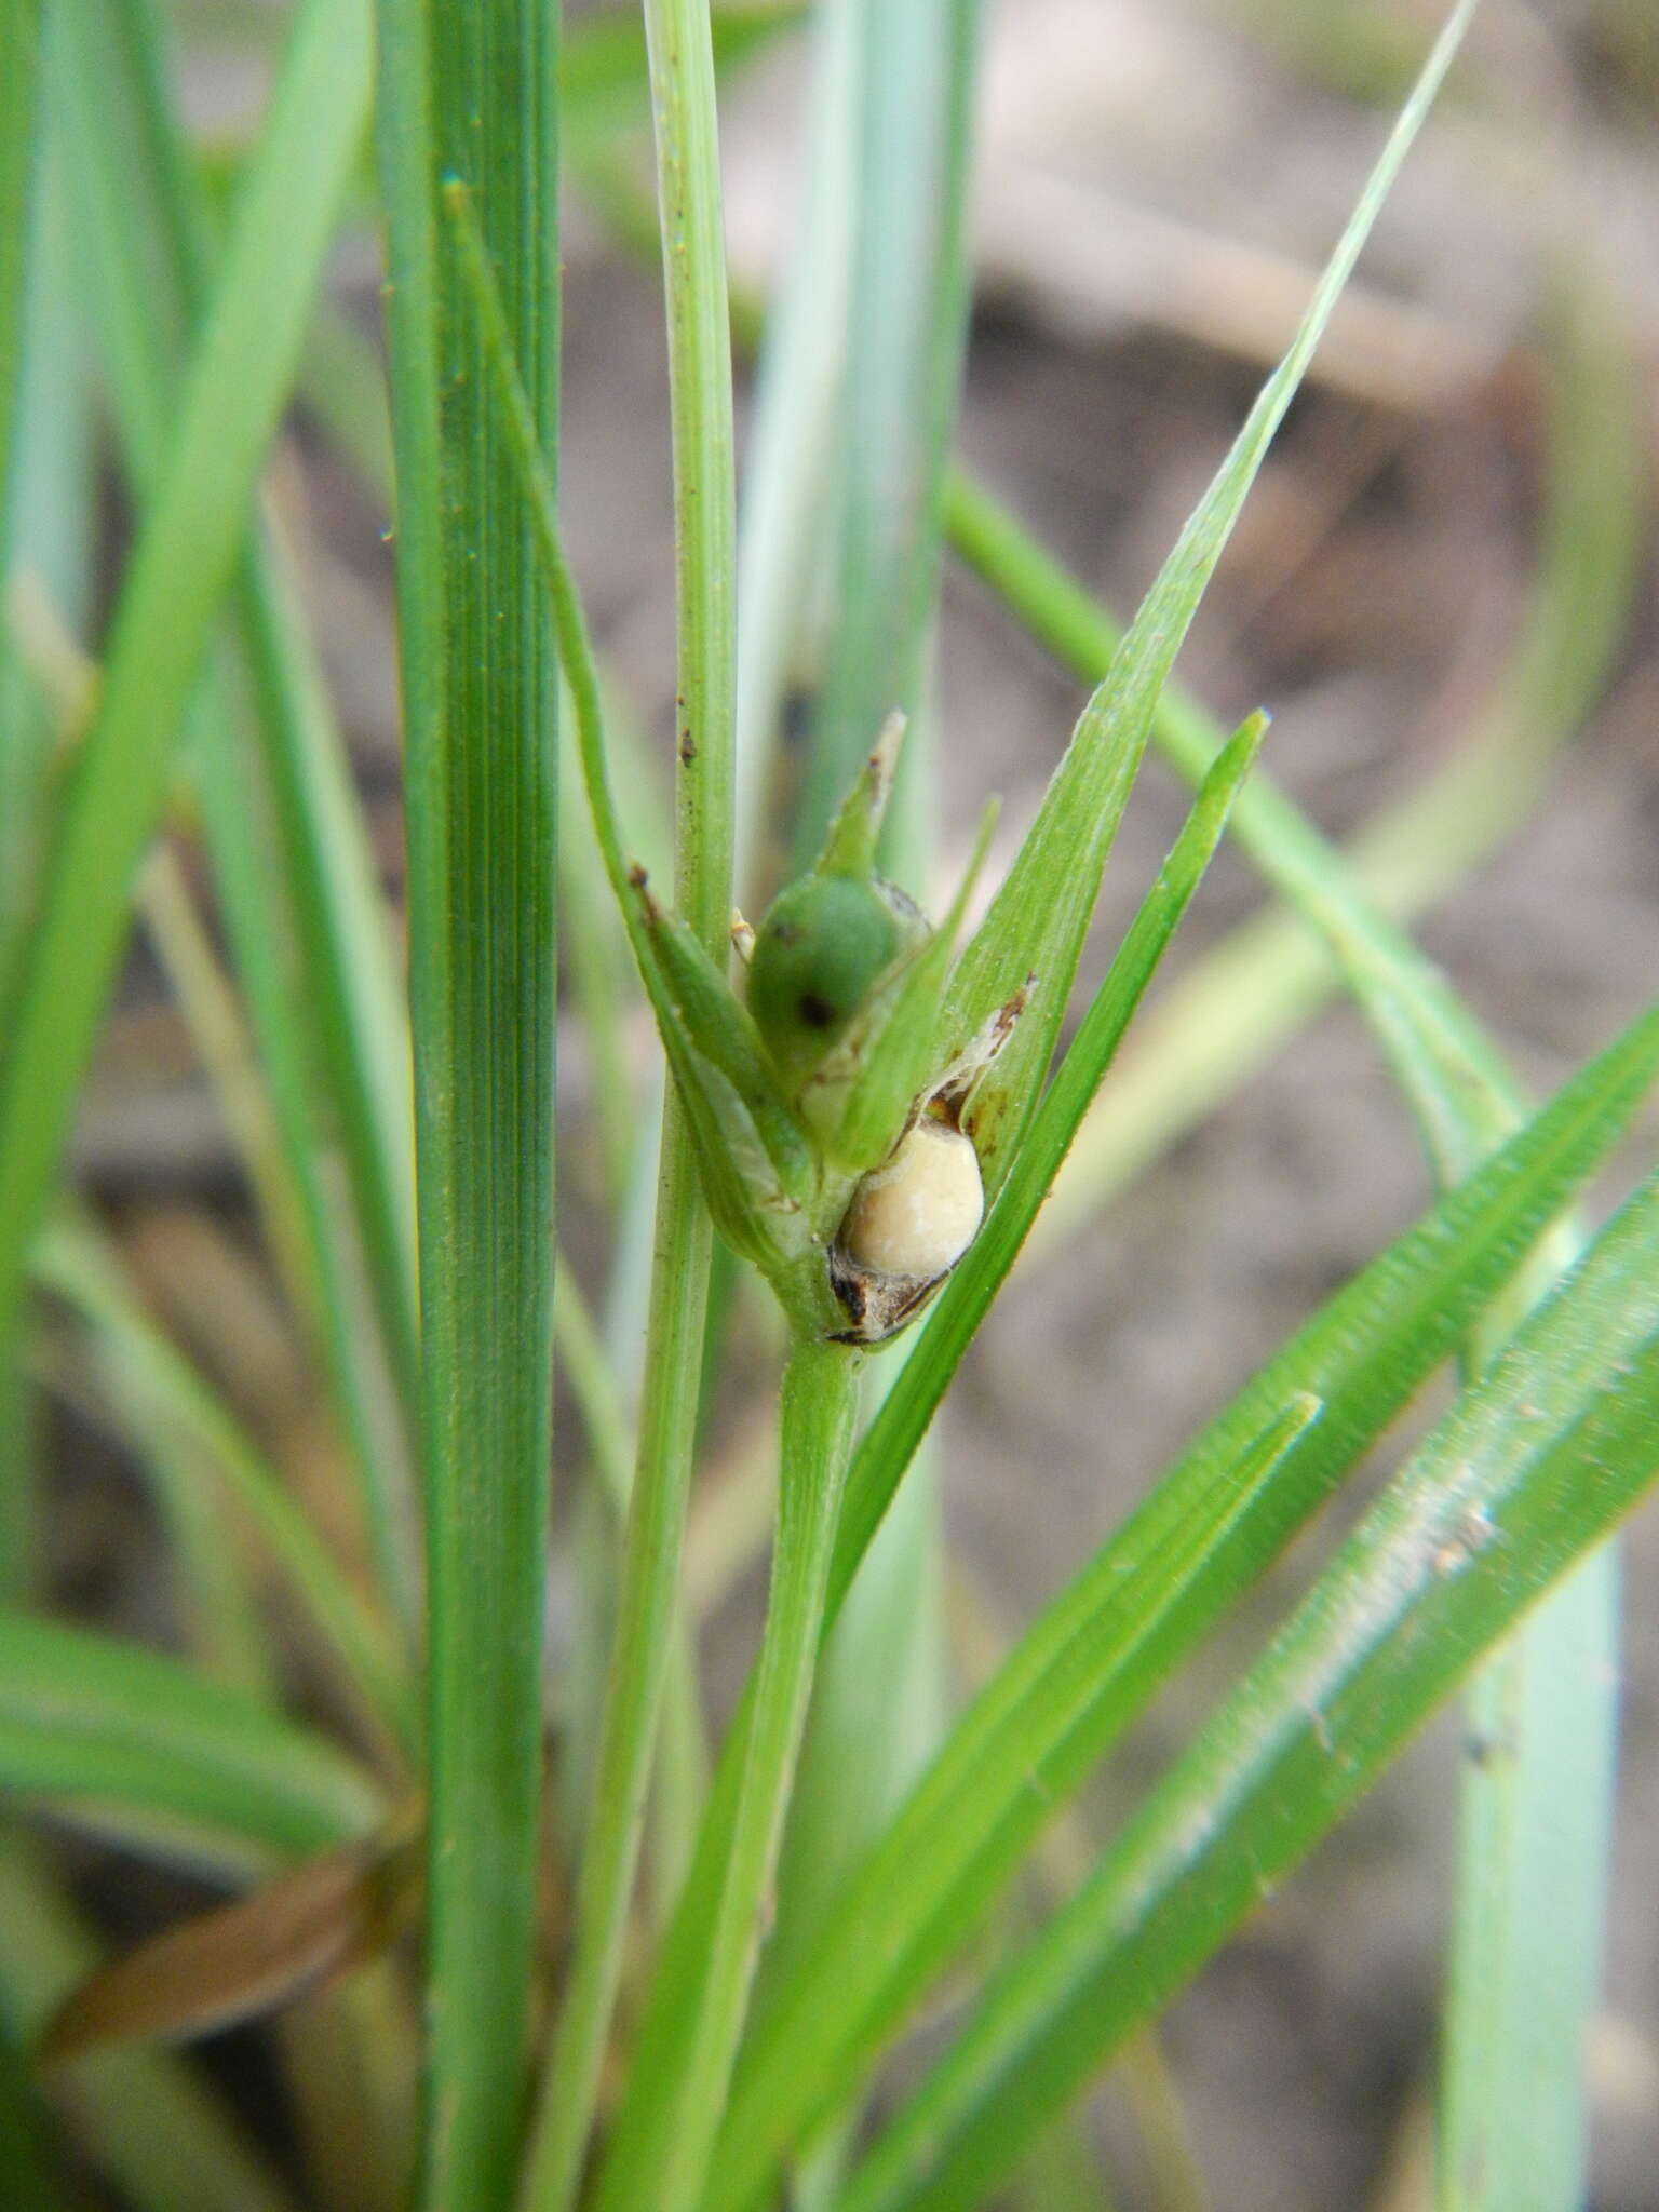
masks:
<svg viewBox="0 0 1659 2212"><path fill-rule="evenodd" d="M980 2201L1659 1473L1659 1183L1389 1484L1097 1871L989 1986L838 2212Z"/></svg>

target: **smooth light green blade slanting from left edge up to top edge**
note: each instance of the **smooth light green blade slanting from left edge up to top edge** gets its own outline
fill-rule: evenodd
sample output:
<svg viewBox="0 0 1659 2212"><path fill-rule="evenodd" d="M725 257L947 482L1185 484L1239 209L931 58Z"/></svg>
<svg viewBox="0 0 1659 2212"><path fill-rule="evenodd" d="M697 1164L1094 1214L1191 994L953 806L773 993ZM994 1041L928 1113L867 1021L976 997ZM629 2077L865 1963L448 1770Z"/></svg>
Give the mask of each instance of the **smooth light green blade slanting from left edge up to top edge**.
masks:
<svg viewBox="0 0 1659 2212"><path fill-rule="evenodd" d="M367 27L343 0L299 13L166 484L126 575L97 714L69 794L0 1091L0 1338L64 1144L126 929L133 872L259 465L283 405L367 108Z"/></svg>

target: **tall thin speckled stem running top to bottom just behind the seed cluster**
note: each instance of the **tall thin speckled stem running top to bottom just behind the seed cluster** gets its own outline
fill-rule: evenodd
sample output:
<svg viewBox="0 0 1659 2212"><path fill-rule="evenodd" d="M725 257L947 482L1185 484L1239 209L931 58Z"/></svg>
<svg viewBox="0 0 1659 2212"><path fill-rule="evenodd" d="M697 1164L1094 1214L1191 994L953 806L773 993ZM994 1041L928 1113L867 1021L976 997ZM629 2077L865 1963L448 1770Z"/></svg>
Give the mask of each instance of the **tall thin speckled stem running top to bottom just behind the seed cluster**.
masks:
<svg viewBox="0 0 1659 2212"><path fill-rule="evenodd" d="M699 0L646 0L646 38L657 133L657 197L668 241L664 283L679 617L675 902L706 949L721 958L732 896L737 487L708 7ZM540 504L546 513L546 504ZM602 803L597 684L591 657L586 653L573 657L568 650L573 635L580 633L573 593L555 593L555 622L577 706L595 832L615 883L619 849L615 821ZM637 927L633 896L622 885L619 894L624 918ZM617 1644L599 1736L593 1816L582 1854L575 1958L526 2168L524 2201L546 2212L566 2212L575 2201L622 1971L628 1898L677 1608L712 1250L690 1128L679 1099L670 1097L657 1183L639 1464L628 1500Z"/></svg>

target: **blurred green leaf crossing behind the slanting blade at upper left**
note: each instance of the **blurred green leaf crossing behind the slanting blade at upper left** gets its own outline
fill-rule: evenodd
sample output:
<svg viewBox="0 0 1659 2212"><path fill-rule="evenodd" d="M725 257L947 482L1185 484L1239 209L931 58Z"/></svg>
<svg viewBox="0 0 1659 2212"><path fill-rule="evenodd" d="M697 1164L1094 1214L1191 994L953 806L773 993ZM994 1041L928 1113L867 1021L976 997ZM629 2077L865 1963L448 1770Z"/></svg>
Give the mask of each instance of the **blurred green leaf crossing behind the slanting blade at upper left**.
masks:
<svg viewBox="0 0 1659 2212"><path fill-rule="evenodd" d="M91 299L126 471L148 498L166 467L188 334L206 301L212 226L148 0L66 0L62 27ZM327 1365L380 1579L414 1632L414 1197L400 982L274 529L252 533L230 604L257 743L241 728L241 690L219 664L197 690L188 750L281 1130L283 1210L303 1223L299 1272L283 1221L268 1214L268 1234ZM349 1208L319 1172L336 1146ZM261 1203L279 1197L259 1172L252 1181Z"/></svg>

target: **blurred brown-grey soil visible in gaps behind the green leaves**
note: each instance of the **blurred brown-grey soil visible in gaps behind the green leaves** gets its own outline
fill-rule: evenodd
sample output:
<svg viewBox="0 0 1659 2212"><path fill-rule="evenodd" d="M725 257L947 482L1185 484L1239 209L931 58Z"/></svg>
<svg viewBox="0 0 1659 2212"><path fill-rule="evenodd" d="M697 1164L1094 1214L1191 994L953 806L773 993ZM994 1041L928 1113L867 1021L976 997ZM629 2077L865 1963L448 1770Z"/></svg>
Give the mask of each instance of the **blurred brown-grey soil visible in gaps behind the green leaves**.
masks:
<svg viewBox="0 0 1659 2212"><path fill-rule="evenodd" d="M1290 336L1438 7L1416 0L1002 0L989 11L967 458L1108 604L1128 611ZM259 75L204 51L217 122ZM787 246L801 51L732 84L730 234L761 283ZM1650 0L1489 0L1413 153L1307 396L1252 495L1183 679L1228 723L1274 710L1272 774L1349 836L1440 765L1513 646L1546 469L1542 349L1562 268L1601 288L1644 376L1659 460L1659 22ZM376 319L367 243L341 294ZM668 763L672 562L661 307L650 270L571 206L564 498L622 697ZM307 595L389 887L400 878L385 515L305 425L279 467ZM1650 504L1650 502L1648 502ZM1082 686L951 568L938 653L940 883L987 792L1011 852ZM1181 814L1148 772L1108 872L1099 958ZM920 887L918 887L920 889ZM1261 902L1223 854L1172 969ZM1533 1091L1553 1088L1659 982L1655 571L1615 679L1535 818L1436 909L1425 942ZM1168 995L1161 987L1159 995ZM639 1062L648 1040L639 1026ZM1128 1068L1128 1060L1126 1060ZM571 1237L595 1186L593 1084L562 1044ZM1655 1124L1644 1146L1652 1157ZM80 1164L164 1312L226 1374L283 1462L312 1407L250 1256L232 1155L188 1042L137 958ZM956 1617L1013 1626L1115 1526L1234 1385L1422 1206L1409 1115L1360 1022L1316 1020L1086 1228L1033 1254L940 1429ZM591 1243L591 1237L588 1237ZM597 1254L588 1254L597 1265ZM734 1405L741 1431L759 1413ZM575 1433L575 1425L566 1427ZM91 1425L60 1416L55 1582L80 1613L166 1632L155 1531ZM1389 1464L1398 1451L1387 1455ZM319 1482L319 1495L323 1484ZM1192 1666L1086 1807L1095 1836L1183 1741L1301 1588L1329 1531ZM1628 1546L1626 1761L1606 2015L1593 2051L1597 2212L1659 2212L1659 1511ZM730 1681L759 1573L721 1608ZM1400 2208L1420 2172L1451 1876L1449 1717L1172 2011L1166 2051L1208 2201L1225 2212ZM166 1916L128 1863L119 1931ZM88 1863L91 1878L91 1863ZM1168 2205L1117 2097L1124 2205ZM1128 2148L1124 2148L1128 2146Z"/></svg>

